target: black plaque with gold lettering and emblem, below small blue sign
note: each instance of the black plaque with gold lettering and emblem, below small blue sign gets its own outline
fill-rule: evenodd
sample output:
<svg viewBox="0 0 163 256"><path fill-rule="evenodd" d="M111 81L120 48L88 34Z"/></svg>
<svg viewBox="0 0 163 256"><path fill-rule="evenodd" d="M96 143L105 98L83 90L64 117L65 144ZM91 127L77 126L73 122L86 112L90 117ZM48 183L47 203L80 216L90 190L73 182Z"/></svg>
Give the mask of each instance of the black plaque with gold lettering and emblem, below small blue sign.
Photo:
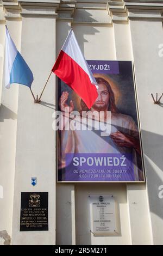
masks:
<svg viewBox="0 0 163 256"><path fill-rule="evenodd" d="M21 192L20 231L48 230L48 192Z"/></svg>

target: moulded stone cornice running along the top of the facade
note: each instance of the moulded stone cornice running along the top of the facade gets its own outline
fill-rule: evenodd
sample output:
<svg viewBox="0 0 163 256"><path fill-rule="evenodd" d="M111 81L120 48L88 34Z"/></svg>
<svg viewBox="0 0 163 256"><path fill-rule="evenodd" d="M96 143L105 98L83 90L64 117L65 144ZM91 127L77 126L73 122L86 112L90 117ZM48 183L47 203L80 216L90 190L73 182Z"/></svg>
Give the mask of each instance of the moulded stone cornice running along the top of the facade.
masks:
<svg viewBox="0 0 163 256"><path fill-rule="evenodd" d="M74 22L84 22L93 24L107 22L128 22L129 20L160 20L162 21L163 1L138 1L138 0L122 0L108 1L107 3L93 2L77 2L62 0L5 0L1 2L4 9L5 19L21 20L21 16L42 16L42 17L59 17L59 19L70 19L74 16L75 9L96 9L99 11L106 10L108 12L108 21L85 21L80 20ZM104 7L105 4L105 7ZM84 5L82 7L82 5ZM1 15L2 16L2 15ZM81 19L79 17L78 19ZM84 18L83 18L84 19ZM110 21L111 19L111 21ZM4 19L1 18L1 22ZM94 24L95 24L94 23Z"/></svg>

